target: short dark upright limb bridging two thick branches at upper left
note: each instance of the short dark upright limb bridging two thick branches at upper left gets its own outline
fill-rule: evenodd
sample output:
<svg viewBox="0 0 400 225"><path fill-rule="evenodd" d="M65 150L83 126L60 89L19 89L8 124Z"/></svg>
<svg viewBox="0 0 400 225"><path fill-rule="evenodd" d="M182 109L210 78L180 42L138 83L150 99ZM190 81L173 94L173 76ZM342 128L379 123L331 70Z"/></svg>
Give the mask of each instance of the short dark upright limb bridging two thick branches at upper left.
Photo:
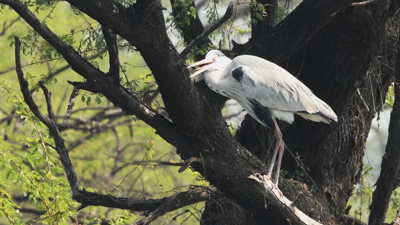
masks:
<svg viewBox="0 0 400 225"><path fill-rule="evenodd" d="M102 25L102 31L104 35L104 40L106 40L106 45L108 49L110 69L108 70L108 75L112 76L114 84L120 83L120 60L118 56L118 42L117 36L108 28L107 25Z"/></svg>

